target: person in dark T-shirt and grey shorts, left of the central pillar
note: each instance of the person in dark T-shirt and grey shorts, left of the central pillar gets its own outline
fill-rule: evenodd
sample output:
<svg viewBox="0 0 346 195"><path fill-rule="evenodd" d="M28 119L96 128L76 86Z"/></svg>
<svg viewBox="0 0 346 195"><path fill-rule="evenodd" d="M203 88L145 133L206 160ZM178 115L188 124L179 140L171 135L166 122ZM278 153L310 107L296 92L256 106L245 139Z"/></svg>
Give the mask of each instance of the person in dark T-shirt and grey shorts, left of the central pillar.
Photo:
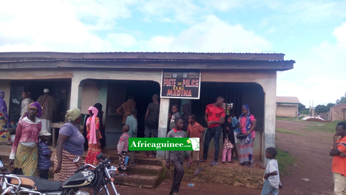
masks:
<svg viewBox="0 0 346 195"><path fill-rule="evenodd" d="M144 137L157 137L158 134L158 117L160 115L160 96L157 94L153 95L153 102L149 103L147 112L145 113L145 129ZM151 151L148 155L148 152L145 151L144 157L155 158L154 151Z"/></svg>

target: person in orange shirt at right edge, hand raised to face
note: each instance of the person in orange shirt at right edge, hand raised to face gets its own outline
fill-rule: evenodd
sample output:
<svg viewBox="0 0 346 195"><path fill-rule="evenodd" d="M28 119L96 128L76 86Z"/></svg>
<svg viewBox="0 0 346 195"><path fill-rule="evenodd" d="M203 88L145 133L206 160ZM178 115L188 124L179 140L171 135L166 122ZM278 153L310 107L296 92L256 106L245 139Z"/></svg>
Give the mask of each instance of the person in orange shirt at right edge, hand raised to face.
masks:
<svg viewBox="0 0 346 195"><path fill-rule="evenodd" d="M329 155L334 156L331 163L331 172L334 178L334 194L346 194L346 122L339 122L336 125L336 134L333 135L333 149ZM338 139L338 136L341 136Z"/></svg>

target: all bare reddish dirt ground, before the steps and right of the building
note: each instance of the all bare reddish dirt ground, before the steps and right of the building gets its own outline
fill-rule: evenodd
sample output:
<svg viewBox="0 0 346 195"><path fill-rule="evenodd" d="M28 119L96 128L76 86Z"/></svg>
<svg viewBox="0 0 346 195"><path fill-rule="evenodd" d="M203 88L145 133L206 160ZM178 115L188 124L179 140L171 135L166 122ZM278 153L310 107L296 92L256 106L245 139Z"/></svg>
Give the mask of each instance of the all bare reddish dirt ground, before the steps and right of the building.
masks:
<svg viewBox="0 0 346 195"><path fill-rule="evenodd" d="M291 133L276 133L276 146L289 152L297 159L294 166L288 167L290 175L280 176L284 188L280 189L282 195L309 194L329 195L333 194L333 177L331 175L331 161L329 151L333 142L333 134L326 132L312 132L304 130L308 125L318 125L309 122L276 121L276 128L288 129L303 135ZM254 169L256 169L254 167ZM309 181L301 178L310 179ZM116 185L121 195L142 194L169 194L172 181L165 179L155 189L136 188ZM195 184L188 187L187 182L182 182L179 194L260 194L259 189L243 187Z"/></svg>

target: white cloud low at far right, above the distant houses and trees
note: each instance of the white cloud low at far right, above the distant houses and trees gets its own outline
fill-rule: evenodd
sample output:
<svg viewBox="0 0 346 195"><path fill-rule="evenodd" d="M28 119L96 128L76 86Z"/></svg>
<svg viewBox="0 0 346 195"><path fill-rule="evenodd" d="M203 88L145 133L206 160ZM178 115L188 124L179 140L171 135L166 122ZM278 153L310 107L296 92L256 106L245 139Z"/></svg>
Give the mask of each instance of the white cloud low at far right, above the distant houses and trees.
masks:
<svg viewBox="0 0 346 195"><path fill-rule="evenodd" d="M336 27L336 43L322 41L302 54L293 70L277 76L277 95L297 96L301 103L335 103L346 91L346 23Z"/></svg>

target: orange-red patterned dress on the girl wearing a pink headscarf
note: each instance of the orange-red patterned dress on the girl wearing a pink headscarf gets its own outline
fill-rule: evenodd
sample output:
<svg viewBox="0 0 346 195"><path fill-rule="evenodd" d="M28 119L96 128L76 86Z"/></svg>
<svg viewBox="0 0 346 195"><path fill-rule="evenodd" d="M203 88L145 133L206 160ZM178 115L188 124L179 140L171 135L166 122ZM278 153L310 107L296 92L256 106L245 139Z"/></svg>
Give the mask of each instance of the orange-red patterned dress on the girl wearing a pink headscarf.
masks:
<svg viewBox="0 0 346 195"><path fill-rule="evenodd" d="M90 123L86 125L86 133L88 133L86 135L86 138L88 139L88 142L89 142L89 137L90 137L91 119L92 119L92 117L88 118ZM99 138L101 139L102 136L101 136L101 133L99 131L99 128L100 128L100 119L99 119L99 117L95 117L95 126L96 126L95 127L96 131L99 132ZM99 165L100 163L96 159L96 156L101 153L101 147L99 146L98 139L97 139L97 143L96 144L88 143L88 146L89 146L89 148L88 148L88 153L86 154L86 157L85 157L85 163L92 164L93 166Z"/></svg>

